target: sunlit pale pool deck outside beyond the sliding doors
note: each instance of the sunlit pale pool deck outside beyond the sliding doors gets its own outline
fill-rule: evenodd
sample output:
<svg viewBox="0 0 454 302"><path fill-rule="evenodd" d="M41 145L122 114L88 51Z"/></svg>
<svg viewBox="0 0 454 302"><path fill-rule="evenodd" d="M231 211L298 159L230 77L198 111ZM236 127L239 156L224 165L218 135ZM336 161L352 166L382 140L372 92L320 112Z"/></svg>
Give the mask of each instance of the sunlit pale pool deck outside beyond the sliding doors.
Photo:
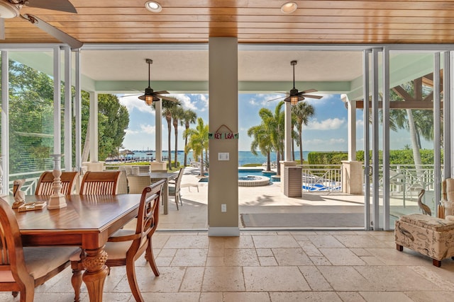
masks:
<svg viewBox="0 0 454 302"><path fill-rule="evenodd" d="M160 230L204 230L208 228L208 182L199 182L199 170L187 167L182 178L183 207L169 200L169 214L160 216ZM392 199L392 211L397 214L419 211L416 200ZM302 197L287 197L280 182L260 187L238 187L240 214L255 213L363 213L364 196L342 192L303 192ZM238 225L243 228L240 218Z"/></svg>

